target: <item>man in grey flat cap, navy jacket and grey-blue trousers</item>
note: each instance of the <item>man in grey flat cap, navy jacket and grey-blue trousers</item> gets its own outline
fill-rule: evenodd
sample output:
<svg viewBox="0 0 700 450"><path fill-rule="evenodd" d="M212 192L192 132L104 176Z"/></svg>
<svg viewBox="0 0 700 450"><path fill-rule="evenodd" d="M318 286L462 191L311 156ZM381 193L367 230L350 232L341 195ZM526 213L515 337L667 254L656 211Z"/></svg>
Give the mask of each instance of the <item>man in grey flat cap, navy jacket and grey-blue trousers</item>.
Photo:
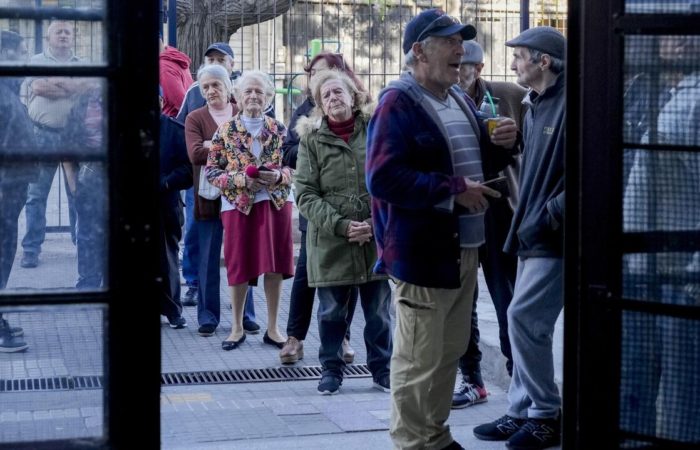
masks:
<svg viewBox="0 0 700 450"><path fill-rule="evenodd" d="M520 200L504 251L518 255L508 308L513 352L509 408L474 428L482 440L503 440L511 450L537 450L561 441L561 397L554 382L552 335L563 308L566 38L550 27L524 31L506 42L511 69L528 86L523 128Z"/></svg>

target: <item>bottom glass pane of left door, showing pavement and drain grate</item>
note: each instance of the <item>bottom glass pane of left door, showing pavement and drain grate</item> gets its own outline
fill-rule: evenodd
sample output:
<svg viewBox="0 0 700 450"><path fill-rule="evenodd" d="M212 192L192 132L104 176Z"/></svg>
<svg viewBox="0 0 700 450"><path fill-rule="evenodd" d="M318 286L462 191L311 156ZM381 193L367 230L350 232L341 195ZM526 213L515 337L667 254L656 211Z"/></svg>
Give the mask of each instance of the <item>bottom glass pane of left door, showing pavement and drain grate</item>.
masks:
<svg viewBox="0 0 700 450"><path fill-rule="evenodd" d="M104 437L105 310L0 314L0 443Z"/></svg>

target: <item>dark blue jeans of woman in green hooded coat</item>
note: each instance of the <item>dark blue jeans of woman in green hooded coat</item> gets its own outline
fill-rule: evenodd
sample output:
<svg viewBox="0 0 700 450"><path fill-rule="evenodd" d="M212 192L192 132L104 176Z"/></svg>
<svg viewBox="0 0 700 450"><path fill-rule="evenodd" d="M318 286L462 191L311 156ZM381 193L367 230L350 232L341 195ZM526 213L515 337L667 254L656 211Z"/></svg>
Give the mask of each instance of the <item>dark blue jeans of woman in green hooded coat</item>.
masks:
<svg viewBox="0 0 700 450"><path fill-rule="evenodd" d="M324 375L343 376L345 361L342 344L348 329L348 308L353 288L360 291L362 311L365 315L365 346L367 366L373 378L389 373L391 359L391 289L385 280L370 281L360 285L319 287L318 331L321 346L318 359Z"/></svg>

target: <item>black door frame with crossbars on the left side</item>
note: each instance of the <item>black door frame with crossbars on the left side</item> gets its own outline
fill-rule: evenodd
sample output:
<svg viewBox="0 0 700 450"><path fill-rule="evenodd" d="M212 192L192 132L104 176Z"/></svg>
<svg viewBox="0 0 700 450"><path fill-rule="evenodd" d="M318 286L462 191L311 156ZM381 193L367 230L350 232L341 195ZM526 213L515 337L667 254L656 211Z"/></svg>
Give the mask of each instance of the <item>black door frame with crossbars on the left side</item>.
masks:
<svg viewBox="0 0 700 450"><path fill-rule="evenodd" d="M105 0L105 9L0 7L1 18L102 21L104 65L0 66L0 76L107 80L110 186L109 288L9 293L3 306L106 307L104 439L2 443L0 449L159 448L158 2ZM5 161L31 160L32 155ZM0 161L1 163L2 161ZM138 311L138 313L135 313Z"/></svg>

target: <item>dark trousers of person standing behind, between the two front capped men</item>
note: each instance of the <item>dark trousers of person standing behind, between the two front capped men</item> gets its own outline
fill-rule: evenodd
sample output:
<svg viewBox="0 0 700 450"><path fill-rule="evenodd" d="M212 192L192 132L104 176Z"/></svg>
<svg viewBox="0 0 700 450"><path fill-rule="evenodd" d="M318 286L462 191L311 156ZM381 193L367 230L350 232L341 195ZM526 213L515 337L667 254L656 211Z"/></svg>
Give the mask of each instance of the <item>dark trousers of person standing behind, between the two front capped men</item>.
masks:
<svg viewBox="0 0 700 450"><path fill-rule="evenodd" d="M512 219L513 212L508 202L493 202L484 215L486 244L479 249L481 268L498 319L501 353L506 358L506 369L509 375L513 374L513 354L508 338L508 306L513 299L518 259L514 255L504 253L503 244L508 236ZM483 386L481 351L479 350L479 320L476 312L476 300L479 296L478 287L474 291L471 335L467 351L459 359L459 368L468 381Z"/></svg>

